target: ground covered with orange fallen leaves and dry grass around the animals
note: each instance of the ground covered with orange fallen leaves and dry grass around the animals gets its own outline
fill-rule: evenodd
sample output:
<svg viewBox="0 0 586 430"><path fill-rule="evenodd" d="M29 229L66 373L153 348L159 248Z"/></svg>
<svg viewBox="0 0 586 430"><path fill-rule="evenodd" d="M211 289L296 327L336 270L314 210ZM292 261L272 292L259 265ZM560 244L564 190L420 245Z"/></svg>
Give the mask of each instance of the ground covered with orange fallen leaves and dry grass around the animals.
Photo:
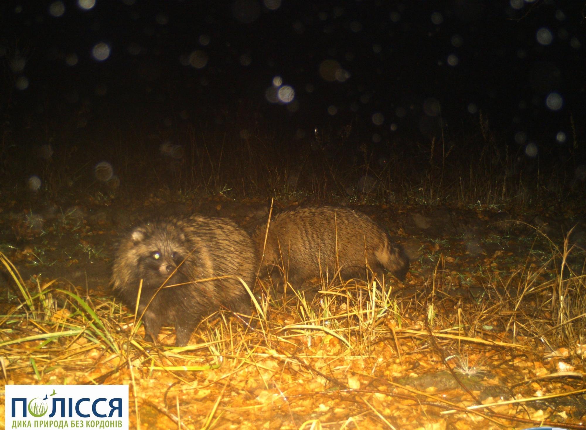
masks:
<svg viewBox="0 0 586 430"><path fill-rule="evenodd" d="M108 288L118 232L160 204L0 213L6 384L130 384L142 429L586 428L586 229L571 213L357 207L406 248L404 283L260 281L254 328L222 312L175 348L172 329L144 342ZM244 227L266 212L173 210Z"/></svg>

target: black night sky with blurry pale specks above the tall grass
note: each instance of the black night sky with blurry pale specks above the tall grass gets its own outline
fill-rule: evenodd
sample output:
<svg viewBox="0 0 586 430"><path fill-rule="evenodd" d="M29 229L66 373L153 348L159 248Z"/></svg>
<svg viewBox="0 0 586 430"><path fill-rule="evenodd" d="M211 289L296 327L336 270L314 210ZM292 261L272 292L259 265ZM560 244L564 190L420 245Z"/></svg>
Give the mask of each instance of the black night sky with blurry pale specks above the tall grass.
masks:
<svg viewBox="0 0 586 430"><path fill-rule="evenodd" d="M82 7L92 4L2 2L2 88L23 117L85 105L90 122L116 114L163 125L240 104L292 128L360 118L386 135L432 134L440 109L448 127L471 126L481 109L511 140L524 131L553 143L559 131L571 135L570 114L584 114L579 1L95 0ZM98 43L109 49L102 61L93 56ZM274 103L275 77L295 91L291 103ZM5 111L6 97L1 103Z"/></svg>

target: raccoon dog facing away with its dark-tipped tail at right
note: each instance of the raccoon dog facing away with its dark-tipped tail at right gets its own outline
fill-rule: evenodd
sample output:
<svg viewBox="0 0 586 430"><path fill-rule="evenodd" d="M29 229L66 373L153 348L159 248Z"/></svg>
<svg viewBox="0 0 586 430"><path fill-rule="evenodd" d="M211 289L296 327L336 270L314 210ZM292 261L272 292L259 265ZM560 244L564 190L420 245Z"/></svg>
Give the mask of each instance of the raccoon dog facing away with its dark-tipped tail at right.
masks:
<svg viewBox="0 0 586 430"><path fill-rule="evenodd" d="M253 234L263 252L266 224ZM337 256L337 258L336 258ZM340 268L342 277L364 278L366 263L377 274L383 269L403 280L409 260L386 231L363 213L342 207L308 207L284 211L270 220L263 270L271 278L281 267L293 286Z"/></svg>

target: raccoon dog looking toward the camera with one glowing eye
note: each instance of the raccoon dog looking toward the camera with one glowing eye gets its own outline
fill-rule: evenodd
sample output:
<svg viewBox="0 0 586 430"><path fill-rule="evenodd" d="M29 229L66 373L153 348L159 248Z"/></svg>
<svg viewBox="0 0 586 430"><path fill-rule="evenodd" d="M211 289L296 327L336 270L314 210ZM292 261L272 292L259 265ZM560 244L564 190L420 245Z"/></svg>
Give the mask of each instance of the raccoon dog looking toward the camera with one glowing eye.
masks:
<svg viewBox="0 0 586 430"><path fill-rule="evenodd" d="M176 345L184 346L203 316L223 307L250 315L250 296L236 277L253 288L257 269L254 244L243 229L231 220L194 215L135 227L120 243L112 282L134 312L142 279L138 315L144 312L146 339L156 341L163 325L175 325ZM218 277L226 278L208 279Z"/></svg>

